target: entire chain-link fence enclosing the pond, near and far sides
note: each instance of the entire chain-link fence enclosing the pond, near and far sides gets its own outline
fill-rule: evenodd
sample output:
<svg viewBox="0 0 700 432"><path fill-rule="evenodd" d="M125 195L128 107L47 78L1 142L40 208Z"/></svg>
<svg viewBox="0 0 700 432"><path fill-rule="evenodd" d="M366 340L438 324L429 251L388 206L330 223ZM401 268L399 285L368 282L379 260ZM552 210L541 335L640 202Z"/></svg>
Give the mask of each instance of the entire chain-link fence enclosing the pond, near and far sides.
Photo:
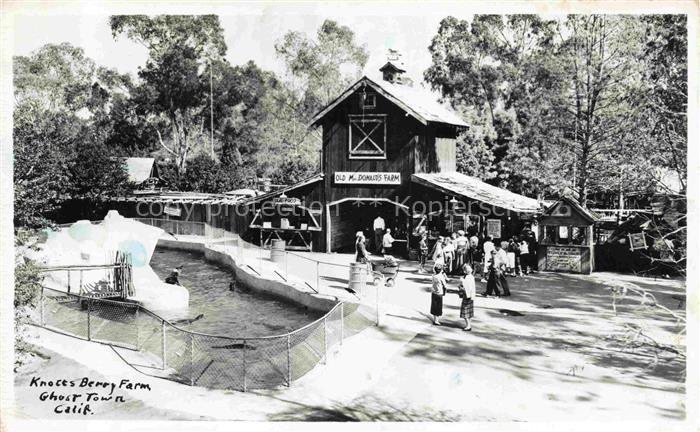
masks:
<svg viewBox="0 0 700 432"><path fill-rule="evenodd" d="M343 340L380 321L380 285L367 269L362 282L349 287L350 266L322 262L282 251L273 257L222 228L203 222L135 218L175 235L199 236L208 248L224 251L261 277L277 278L315 295L337 298L350 292L318 320L291 333L233 338L179 328L139 304L97 299L44 287L39 301L42 327L77 338L129 350L125 361L143 373L207 388L247 391L291 383ZM273 259L274 258L274 259Z"/></svg>

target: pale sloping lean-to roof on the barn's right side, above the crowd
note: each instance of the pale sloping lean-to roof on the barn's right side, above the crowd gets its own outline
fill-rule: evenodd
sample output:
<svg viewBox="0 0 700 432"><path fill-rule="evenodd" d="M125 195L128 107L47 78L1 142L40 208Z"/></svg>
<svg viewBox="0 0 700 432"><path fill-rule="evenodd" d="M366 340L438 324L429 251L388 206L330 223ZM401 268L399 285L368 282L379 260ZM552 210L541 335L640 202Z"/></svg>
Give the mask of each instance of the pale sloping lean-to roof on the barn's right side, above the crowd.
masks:
<svg viewBox="0 0 700 432"><path fill-rule="evenodd" d="M459 195L506 210L519 213L537 213L540 211L540 203L536 199L484 183L476 177L470 177L458 172L413 174L411 180L447 194Z"/></svg>

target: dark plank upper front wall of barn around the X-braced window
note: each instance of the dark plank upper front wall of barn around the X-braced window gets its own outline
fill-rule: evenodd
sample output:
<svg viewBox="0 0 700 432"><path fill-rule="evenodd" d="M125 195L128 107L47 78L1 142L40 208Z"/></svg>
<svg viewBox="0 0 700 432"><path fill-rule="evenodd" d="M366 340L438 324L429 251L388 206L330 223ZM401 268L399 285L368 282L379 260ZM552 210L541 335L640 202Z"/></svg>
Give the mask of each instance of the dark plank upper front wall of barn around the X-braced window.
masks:
<svg viewBox="0 0 700 432"><path fill-rule="evenodd" d="M368 89L369 91L369 89ZM359 91L358 91L359 92ZM359 95L355 92L345 102L327 114L323 122L323 167L328 202L346 197L394 198L407 193L414 172L413 145L420 141L425 126L381 95L376 108L365 109L365 114L386 114L386 159L350 159L349 115L360 115ZM398 172L400 185L335 185L333 174L344 172Z"/></svg>

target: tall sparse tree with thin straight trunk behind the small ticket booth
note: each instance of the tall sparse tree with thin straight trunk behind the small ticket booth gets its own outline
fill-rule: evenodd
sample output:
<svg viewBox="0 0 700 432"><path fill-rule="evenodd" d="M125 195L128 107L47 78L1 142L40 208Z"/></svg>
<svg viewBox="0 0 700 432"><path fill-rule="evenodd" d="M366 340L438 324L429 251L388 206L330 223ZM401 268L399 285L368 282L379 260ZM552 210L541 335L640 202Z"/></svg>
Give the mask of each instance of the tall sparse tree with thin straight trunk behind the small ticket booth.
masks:
<svg viewBox="0 0 700 432"><path fill-rule="evenodd" d="M566 20L571 34L562 43L569 77L564 108L573 117L568 134L576 189L584 205L592 188L603 189L611 177L619 178L611 159L632 142L630 119L636 118L635 86L641 78L632 54L641 49L638 24L637 18L605 15L571 15Z"/></svg>

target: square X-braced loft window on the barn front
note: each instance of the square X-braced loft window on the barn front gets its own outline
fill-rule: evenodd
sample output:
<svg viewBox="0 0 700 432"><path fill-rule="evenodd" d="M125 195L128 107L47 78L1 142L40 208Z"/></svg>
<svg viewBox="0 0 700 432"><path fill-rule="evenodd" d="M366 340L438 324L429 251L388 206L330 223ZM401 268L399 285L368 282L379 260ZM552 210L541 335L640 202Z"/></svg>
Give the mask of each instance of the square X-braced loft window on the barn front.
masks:
<svg viewBox="0 0 700 432"><path fill-rule="evenodd" d="M351 159L386 159L386 115L351 115Z"/></svg>

